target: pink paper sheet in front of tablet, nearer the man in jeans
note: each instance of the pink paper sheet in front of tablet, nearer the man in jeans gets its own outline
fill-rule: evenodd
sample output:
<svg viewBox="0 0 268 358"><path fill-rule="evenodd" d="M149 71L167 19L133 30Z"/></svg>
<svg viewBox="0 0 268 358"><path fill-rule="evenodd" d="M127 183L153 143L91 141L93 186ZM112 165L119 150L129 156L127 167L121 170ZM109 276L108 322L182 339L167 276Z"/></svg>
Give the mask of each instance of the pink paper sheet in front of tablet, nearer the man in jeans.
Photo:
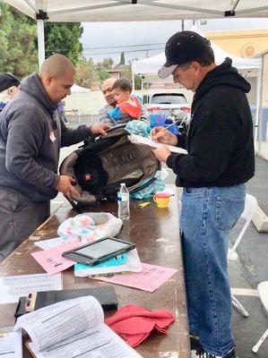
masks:
<svg viewBox="0 0 268 358"><path fill-rule="evenodd" d="M94 277L93 279L154 292L177 272L175 268L162 268L161 266L150 265L148 263L142 263L142 266L142 272L115 275L114 277Z"/></svg>

